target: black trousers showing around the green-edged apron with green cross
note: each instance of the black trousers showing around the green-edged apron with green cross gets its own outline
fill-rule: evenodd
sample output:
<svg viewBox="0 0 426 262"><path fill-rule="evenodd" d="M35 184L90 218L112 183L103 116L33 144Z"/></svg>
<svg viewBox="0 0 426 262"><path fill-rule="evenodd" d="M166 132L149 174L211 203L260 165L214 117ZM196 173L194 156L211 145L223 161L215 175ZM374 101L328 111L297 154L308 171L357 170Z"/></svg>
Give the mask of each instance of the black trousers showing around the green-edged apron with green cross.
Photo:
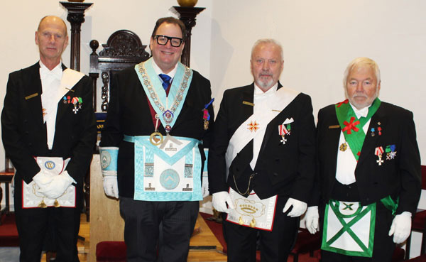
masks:
<svg viewBox="0 0 426 262"><path fill-rule="evenodd" d="M338 187L338 186L337 186ZM351 189L354 187L351 187ZM335 188L334 192L339 192L339 188ZM349 195L354 195L350 194ZM346 190L347 192L347 190ZM344 197L342 194L335 194L338 197ZM354 197L352 197L354 198ZM354 199L346 201L356 201ZM322 218L324 217L324 208L322 208ZM378 201L376 204L376 227L374 229L373 256L366 258L362 256L345 256L339 253L321 251L322 262L390 262L392 261L393 250L393 235L388 236L389 229L393 221L392 213L383 204ZM324 222L322 222L324 224Z"/></svg>

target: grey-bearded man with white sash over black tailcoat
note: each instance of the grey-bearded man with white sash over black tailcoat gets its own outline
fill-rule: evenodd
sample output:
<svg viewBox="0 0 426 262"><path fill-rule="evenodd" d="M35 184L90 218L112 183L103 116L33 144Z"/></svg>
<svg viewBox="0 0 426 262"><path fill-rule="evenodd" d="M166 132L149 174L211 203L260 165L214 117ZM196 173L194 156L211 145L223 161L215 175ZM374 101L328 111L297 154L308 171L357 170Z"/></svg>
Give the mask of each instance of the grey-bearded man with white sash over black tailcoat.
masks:
<svg viewBox="0 0 426 262"><path fill-rule="evenodd" d="M309 96L283 87L283 50L272 39L251 51L254 82L228 89L209 149L213 207L228 213L228 261L287 261L315 175L315 123ZM292 207L290 209L290 207Z"/></svg>

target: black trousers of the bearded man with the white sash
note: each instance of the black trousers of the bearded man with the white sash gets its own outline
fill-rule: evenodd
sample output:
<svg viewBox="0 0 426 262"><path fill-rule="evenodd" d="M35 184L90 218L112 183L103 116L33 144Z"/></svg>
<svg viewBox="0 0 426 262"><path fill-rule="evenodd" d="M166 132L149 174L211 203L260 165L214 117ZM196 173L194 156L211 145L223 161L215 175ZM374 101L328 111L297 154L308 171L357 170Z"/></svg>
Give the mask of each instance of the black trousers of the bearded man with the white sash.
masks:
<svg viewBox="0 0 426 262"><path fill-rule="evenodd" d="M240 226L224 221L224 236L228 246L228 261L256 261L256 239L259 234L261 261L287 261L288 254L295 244L299 217L288 217L283 213L287 197L278 197L273 221L273 230L265 231Z"/></svg>

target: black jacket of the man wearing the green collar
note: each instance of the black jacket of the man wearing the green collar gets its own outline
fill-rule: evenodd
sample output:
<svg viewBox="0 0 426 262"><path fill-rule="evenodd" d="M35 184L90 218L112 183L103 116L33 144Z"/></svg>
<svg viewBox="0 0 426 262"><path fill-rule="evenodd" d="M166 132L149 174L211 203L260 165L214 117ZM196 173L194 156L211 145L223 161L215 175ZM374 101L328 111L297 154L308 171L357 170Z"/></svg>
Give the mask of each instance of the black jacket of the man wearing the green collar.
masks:
<svg viewBox="0 0 426 262"><path fill-rule="evenodd" d="M381 127L380 135L378 126ZM372 128L375 129L374 136L371 136ZM341 132L334 104L321 109L317 124L319 172L315 183L314 202L310 205L317 205L319 201L325 204L330 199L336 181ZM386 146L391 145L395 145L395 158L386 159L386 153L383 153L384 162L378 165L375 149L381 146L384 150ZM391 195L393 200L399 199L397 214L404 211L415 213L421 192L421 171L412 112L381 102L371 117L356 164L355 178L361 204L378 202Z"/></svg>

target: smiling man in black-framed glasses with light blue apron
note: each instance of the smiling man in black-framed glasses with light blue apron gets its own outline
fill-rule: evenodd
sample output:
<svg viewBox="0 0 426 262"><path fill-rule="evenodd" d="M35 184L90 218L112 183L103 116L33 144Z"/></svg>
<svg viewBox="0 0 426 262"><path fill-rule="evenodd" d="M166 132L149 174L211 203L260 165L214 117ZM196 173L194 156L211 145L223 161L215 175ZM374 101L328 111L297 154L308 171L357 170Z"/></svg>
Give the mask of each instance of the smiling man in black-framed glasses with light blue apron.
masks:
<svg viewBox="0 0 426 262"><path fill-rule="evenodd" d="M158 19L152 58L111 81L101 163L105 194L120 199L127 261L187 260L214 113L209 80L179 62L184 38L182 21Z"/></svg>

